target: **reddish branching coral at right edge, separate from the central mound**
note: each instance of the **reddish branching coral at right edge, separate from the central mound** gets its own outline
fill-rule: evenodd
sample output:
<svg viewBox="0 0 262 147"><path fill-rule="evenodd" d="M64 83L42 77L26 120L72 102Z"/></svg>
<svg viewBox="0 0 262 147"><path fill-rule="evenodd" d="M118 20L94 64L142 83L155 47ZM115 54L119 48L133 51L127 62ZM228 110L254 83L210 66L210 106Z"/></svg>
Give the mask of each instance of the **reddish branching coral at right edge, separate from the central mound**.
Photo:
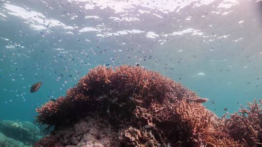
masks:
<svg viewBox="0 0 262 147"><path fill-rule="evenodd" d="M262 147L262 100L247 104L247 108L241 105L239 113L230 114L230 118L223 117L223 129L247 147Z"/></svg>

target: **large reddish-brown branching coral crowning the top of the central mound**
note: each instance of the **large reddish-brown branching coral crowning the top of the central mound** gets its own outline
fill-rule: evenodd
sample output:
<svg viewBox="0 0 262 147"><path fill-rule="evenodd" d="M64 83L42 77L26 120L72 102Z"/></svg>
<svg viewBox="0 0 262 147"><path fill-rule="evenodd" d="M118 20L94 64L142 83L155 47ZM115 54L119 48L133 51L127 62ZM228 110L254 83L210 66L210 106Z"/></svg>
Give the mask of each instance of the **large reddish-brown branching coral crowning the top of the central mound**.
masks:
<svg viewBox="0 0 262 147"><path fill-rule="evenodd" d="M68 124L86 113L99 110L107 114L104 112L109 109L111 112L127 110L123 117L128 117L135 106L148 107L153 102L183 97L197 98L197 95L157 72L142 67L120 66L114 71L98 66L82 77L76 87L68 89L65 97L36 109L37 121L48 125Z"/></svg>

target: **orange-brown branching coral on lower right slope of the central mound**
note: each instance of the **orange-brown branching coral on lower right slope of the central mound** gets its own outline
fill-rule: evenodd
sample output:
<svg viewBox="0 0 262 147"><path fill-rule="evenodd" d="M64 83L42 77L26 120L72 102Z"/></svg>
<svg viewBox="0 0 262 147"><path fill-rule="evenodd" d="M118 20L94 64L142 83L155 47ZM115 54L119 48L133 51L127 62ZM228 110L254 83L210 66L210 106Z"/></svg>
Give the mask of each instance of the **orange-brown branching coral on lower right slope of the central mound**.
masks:
<svg viewBox="0 0 262 147"><path fill-rule="evenodd" d="M222 123L213 112L202 104L181 100L152 107L153 123L161 131L163 142L174 147L239 147L227 133L223 133L218 123Z"/></svg>

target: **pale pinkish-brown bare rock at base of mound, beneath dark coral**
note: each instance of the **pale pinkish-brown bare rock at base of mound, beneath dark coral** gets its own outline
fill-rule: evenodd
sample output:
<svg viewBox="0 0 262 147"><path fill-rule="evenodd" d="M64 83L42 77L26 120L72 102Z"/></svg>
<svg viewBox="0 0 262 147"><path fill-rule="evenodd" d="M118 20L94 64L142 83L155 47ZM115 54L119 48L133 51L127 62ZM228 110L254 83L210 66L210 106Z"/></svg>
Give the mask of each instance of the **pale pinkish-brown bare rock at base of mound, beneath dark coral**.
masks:
<svg viewBox="0 0 262 147"><path fill-rule="evenodd" d="M101 119L81 119L71 127L43 137L34 147L117 147L116 130L104 123Z"/></svg>

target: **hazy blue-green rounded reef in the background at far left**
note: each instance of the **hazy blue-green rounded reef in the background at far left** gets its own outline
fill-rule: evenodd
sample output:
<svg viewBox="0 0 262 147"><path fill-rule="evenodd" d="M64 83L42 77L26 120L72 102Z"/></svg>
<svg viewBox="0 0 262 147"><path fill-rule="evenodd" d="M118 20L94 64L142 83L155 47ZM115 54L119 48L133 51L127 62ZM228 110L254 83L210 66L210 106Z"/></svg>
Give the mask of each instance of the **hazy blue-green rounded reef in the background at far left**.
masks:
<svg viewBox="0 0 262 147"><path fill-rule="evenodd" d="M38 127L29 121L19 122L12 120L1 120L0 132L2 133L2 135L9 138L9 142L18 142L19 144L22 143L21 147L23 147L24 145L33 145L41 138L41 136L39 136L40 130L38 129ZM11 139L13 140L10 141ZM20 145L18 147L20 147Z"/></svg>

